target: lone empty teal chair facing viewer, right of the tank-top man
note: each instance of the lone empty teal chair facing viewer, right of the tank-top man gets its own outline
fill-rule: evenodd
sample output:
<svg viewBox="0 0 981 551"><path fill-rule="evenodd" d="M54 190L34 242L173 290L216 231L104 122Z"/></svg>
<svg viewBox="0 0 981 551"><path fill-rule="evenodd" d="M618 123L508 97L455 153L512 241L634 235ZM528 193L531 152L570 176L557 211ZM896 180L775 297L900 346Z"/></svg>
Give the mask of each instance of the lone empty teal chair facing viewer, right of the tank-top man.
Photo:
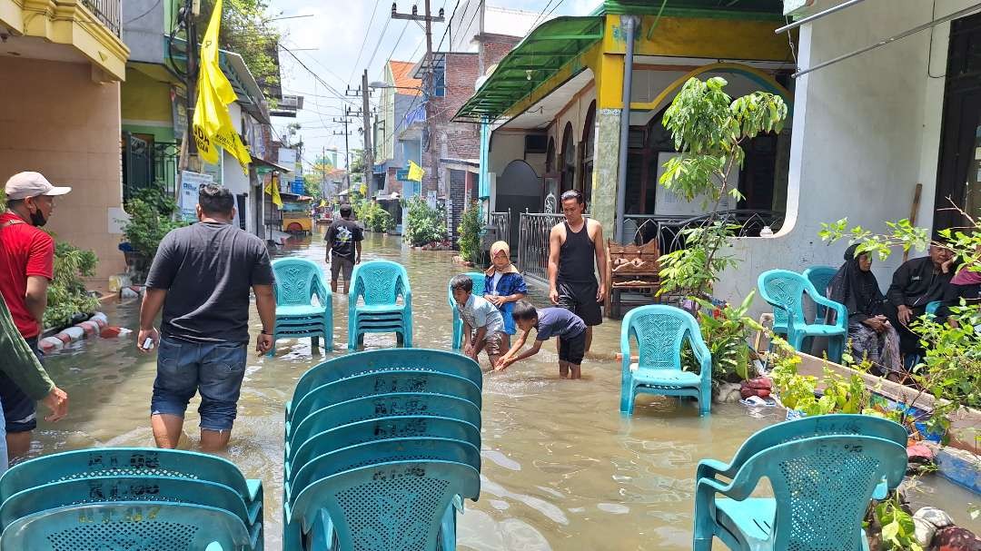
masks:
<svg viewBox="0 0 981 551"><path fill-rule="evenodd" d="M638 342L639 362L631 363L631 337ZM688 339L699 373L682 371L681 348ZM698 412L709 413L712 403L712 356L701 339L691 314L662 304L635 308L620 328L623 354L620 379L620 412L634 413L639 393L690 396L698 400Z"/></svg>

